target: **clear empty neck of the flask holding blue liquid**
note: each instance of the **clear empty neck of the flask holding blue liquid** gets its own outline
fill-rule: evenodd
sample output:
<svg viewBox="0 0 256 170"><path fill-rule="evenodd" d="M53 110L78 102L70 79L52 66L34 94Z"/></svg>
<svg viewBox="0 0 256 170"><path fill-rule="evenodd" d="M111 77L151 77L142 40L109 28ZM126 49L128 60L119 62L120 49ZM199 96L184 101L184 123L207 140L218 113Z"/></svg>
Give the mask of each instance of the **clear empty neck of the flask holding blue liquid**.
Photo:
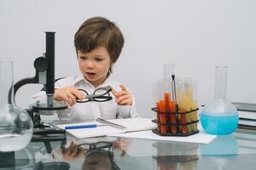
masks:
<svg viewBox="0 0 256 170"><path fill-rule="evenodd" d="M228 66L215 67L215 99L226 99Z"/></svg>

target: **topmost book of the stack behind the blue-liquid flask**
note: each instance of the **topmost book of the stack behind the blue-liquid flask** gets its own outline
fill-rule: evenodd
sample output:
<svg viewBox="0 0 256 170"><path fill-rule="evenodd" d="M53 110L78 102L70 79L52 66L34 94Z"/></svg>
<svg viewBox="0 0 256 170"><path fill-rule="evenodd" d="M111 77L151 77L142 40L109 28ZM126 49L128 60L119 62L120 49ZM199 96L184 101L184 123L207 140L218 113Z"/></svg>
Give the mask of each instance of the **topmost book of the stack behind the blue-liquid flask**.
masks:
<svg viewBox="0 0 256 170"><path fill-rule="evenodd" d="M239 119L256 121L256 104L232 102L238 111Z"/></svg>

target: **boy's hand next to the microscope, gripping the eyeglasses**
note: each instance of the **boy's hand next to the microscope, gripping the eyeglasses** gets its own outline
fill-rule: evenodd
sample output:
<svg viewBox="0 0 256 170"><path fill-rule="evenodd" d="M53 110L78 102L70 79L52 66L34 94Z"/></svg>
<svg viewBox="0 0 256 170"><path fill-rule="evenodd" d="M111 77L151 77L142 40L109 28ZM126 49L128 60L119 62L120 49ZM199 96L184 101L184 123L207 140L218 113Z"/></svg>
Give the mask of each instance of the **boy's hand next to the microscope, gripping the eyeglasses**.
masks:
<svg viewBox="0 0 256 170"><path fill-rule="evenodd" d="M78 89L73 88L73 86L55 89L54 99L56 101L65 101L70 106L75 105L77 99L82 100L84 98L84 94Z"/></svg>

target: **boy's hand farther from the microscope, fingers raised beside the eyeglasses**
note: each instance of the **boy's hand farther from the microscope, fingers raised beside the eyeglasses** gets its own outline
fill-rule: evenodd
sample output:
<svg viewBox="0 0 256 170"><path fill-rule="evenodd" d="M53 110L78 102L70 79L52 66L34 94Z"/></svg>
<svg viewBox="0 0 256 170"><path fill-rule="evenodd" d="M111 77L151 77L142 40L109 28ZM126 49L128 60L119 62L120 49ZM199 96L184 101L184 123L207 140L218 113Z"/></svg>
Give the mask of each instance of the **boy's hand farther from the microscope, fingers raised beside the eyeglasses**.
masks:
<svg viewBox="0 0 256 170"><path fill-rule="evenodd" d="M114 89L111 90L112 94L115 96L115 102L118 105L132 105L131 93L125 88L123 84L120 84L121 91L117 92Z"/></svg>

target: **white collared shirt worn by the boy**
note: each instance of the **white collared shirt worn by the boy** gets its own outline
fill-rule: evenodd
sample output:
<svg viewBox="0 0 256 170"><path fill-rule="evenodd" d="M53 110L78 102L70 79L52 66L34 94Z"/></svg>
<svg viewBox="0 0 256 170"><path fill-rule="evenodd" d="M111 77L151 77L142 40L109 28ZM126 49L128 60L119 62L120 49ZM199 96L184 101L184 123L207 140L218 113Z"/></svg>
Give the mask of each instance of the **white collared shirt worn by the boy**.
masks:
<svg viewBox="0 0 256 170"><path fill-rule="evenodd" d="M111 77L108 77L102 85L97 88L111 86L114 90L120 91L119 82L113 81ZM96 90L93 85L90 84L82 75L63 78L55 82L55 88L65 88L67 86L73 86L74 88L84 89L88 94L93 94ZM60 119L69 120L88 120L88 119L115 119L115 118L128 118L137 117L138 114L135 108L135 100L132 97L132 105L117 105L115 97L112 93L112 100L105 102L89 101L85 103L76 103L75 105L68 106L67 110L56 111ZM45 91L41 91L31 97L29 103L30 106L35 105L37 102L46 103L47 97Z"/></svg>

